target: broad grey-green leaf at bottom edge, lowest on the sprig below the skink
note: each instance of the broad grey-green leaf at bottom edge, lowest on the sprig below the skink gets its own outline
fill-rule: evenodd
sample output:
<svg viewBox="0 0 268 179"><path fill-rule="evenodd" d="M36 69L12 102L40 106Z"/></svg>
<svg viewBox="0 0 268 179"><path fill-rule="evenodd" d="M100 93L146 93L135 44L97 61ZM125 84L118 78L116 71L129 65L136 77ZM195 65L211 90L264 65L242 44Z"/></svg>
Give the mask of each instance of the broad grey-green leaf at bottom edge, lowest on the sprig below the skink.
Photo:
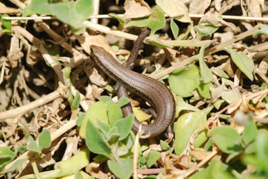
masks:
<svg viewBox="0 0 268 179"><path fill-rule="evenodd" d="M119 179L129 179L133 173L133 159L122 159L120 162L108 160L110 171Z"/></svg>

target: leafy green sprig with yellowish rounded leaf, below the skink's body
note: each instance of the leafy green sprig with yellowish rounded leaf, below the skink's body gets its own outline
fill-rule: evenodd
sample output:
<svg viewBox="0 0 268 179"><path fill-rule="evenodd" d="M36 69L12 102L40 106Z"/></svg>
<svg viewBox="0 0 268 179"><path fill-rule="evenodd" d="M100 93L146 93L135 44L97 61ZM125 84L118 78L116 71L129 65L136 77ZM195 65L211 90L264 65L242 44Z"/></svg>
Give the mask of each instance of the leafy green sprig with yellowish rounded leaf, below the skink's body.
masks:
<svg viewBox="0 0 268 179"><path fill-rule="evenodd" d="M129 99L121 97L114 103L109 96L101 96L99 100L85 114L80 135L86 138L89 150L98 154L94 160L108 159L111 172L120 179L128 179L133 172L130 156L135 136L131 131L134 114L123 117L120 107Z"/></svg>

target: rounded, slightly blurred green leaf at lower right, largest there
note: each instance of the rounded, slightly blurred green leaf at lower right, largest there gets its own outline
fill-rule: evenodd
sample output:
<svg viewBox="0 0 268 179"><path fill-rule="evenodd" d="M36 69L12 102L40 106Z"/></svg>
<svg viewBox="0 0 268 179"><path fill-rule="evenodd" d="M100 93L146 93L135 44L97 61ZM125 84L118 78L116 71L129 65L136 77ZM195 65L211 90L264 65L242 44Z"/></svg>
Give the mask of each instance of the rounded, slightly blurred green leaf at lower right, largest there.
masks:
<svg viewBox="0 0 268 179"><path fill-rule="evenodd" d="M241 136L230 126L214 127L208 131L208 136L224 153L232 154L241 149Z"/></svg>

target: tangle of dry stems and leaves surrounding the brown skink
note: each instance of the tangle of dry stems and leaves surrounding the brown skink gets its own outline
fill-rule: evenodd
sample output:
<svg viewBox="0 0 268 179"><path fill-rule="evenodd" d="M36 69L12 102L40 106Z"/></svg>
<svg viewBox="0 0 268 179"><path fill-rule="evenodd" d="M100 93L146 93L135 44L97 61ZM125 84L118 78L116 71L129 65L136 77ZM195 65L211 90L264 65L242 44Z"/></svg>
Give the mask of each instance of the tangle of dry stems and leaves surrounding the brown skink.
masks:
<svg viewBox="0 0 268 179"><path fill-rule="evenodd" d="M0 175L268 177L267 21L220 15L267 17L266 1L101 1L99 14L114 18L90 28L83 21L94 5L86 1L0 2ZM54 14L62 22L14 20L11 27L2 17L14 13ZM164 13L183 16L169 23ZM191 19L191 13L205 15ZM89 47L103 47L124 65L129 34L140 27L151 35L134 71L168 86L177 111L174 136L135 143L143 136L130 130L133 116L123 118L120 109L129 100L112 92L113 81L89 57ZM148 102L131 91L130 102L138 120L154 121L144 112Z"/></svg>

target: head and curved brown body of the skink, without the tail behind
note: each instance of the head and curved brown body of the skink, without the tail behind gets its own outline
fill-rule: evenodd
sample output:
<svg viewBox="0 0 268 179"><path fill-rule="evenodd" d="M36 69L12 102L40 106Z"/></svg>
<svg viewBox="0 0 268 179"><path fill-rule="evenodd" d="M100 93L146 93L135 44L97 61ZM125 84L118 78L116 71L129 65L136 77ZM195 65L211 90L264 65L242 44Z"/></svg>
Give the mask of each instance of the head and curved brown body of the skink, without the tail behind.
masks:
<svg viewBox="0 0 268 179"><path fill-rule="evenodd" d="M119 82L126 89L143 97L156 109L157 118L155 122L149 125L141 124L141 129L145 133L150 133L150 138L164 132L173 121L176 110L171 91L157 80L123 67L102 47L91 45L90 50L93 59L106 75ZM135 119L132 130L137 133L139 125L140 122Z"/></svg>

